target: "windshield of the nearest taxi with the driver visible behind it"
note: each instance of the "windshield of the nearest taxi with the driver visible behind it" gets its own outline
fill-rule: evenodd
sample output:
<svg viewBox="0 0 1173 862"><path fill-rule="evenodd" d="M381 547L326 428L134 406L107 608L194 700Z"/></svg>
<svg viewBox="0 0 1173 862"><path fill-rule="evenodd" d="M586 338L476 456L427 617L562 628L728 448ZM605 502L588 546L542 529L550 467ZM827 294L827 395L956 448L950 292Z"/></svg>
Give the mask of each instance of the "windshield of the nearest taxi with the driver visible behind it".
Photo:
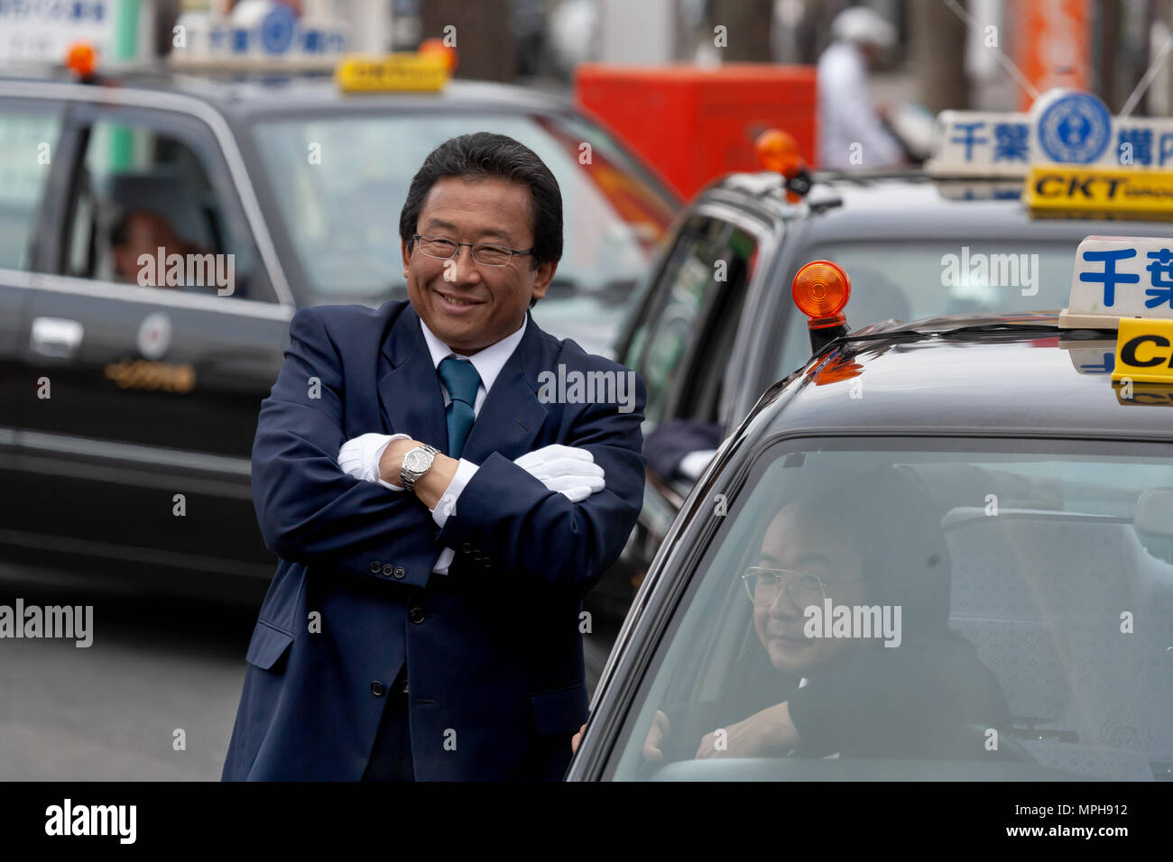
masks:
<svg viewBox="0 0 1173 862"><path fill-rule="evenodd" d="M759 455L611 776L1167 780L1168 447L874 446Z"/></svg>

